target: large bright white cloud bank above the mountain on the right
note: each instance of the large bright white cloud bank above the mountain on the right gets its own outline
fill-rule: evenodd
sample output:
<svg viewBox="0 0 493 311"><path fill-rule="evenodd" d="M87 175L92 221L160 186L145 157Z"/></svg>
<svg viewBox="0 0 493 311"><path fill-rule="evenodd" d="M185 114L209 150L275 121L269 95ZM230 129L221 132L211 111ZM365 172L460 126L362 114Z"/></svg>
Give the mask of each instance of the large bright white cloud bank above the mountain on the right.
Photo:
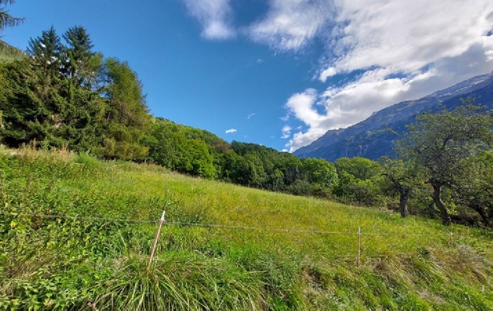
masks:
<svg viewBox="0 0 493 311"><path fill-rule="evenodd" d="M288 111L307 125L306 131L294 133L288 143L291 152L329 129L351 126L393 103L420 98L493 70L493 36L486 36L493 28L492 1L335 3L336 18L331 19L332 5L327 3L325 22L317 24L333 26L331 31L318 27L323 30L317 32L318 38L326 40L327 59L318 79L325 82L333 75L353 79L288 98ZM355 70L363 73L354 77Z"/></svg>

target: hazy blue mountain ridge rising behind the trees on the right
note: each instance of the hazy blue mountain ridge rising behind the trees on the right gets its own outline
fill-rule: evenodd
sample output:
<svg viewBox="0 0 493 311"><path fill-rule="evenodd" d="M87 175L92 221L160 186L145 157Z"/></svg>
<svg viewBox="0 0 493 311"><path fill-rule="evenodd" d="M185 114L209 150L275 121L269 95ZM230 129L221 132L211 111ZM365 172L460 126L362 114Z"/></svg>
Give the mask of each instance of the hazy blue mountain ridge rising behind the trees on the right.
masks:
<svg viewBox="0 0 493 311"><path fill-rule="evenodd" d="M437 112L443 107L453 109L462 103L461 98L476 98L476 103L491 108L493 72L462 81L418 100L406 100L386 107L347 129L327 131L294 154L301 158L316 157L327 161L340 157L378 159L383 155L392 156L394 142L407 131L405 125L414 122L418 113Z"/></svg>

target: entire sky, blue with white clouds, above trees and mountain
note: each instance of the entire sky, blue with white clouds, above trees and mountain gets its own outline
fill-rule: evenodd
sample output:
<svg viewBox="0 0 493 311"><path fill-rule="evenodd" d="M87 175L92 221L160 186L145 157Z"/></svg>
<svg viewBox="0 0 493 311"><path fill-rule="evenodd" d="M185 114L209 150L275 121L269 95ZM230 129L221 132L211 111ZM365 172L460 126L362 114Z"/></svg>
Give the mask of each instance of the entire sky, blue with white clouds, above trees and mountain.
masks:
<svg viewBox="0 0 493 311"><path fill-rule="evenodd" d="M493 70L489 0L17 0L9 9L26 18L3 33L10 44L84 26L97 51L138 72L154 116L278 150Z"/></svg>

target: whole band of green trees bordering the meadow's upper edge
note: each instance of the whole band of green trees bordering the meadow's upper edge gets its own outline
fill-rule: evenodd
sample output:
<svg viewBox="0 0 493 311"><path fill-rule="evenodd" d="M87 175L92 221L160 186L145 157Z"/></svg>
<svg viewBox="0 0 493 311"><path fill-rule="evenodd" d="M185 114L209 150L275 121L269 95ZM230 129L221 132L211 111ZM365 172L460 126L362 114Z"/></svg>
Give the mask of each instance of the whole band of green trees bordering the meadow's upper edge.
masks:
<svg viewBox="0 0 493 311"><path fill-rule="evenodd" d="M299 159L257 144L153 118L138 75L94 51L84 27L32 38L25 57L0 64L0 140L69 148L102 159L147 161L171 170L270 191L490 226L491 113L466 100L422 113L396 148L398 159Z"/></svg>

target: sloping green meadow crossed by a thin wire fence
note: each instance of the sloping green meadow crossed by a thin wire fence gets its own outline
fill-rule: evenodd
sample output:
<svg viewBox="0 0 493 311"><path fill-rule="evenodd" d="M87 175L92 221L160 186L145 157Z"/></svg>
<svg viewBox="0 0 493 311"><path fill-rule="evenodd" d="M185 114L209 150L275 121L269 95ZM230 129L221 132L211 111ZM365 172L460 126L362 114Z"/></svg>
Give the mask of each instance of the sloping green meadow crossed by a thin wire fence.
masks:
<svg viewBox="0 0 493 311"><path fill-rule="evenodd" d="M5 150L3 152L5 154ZM189 178L153 165L0 156L0 308L493 309L488 232ZM19 213L323 230L42 219ZM429 234L405 236L403 234Z"/></svg>

